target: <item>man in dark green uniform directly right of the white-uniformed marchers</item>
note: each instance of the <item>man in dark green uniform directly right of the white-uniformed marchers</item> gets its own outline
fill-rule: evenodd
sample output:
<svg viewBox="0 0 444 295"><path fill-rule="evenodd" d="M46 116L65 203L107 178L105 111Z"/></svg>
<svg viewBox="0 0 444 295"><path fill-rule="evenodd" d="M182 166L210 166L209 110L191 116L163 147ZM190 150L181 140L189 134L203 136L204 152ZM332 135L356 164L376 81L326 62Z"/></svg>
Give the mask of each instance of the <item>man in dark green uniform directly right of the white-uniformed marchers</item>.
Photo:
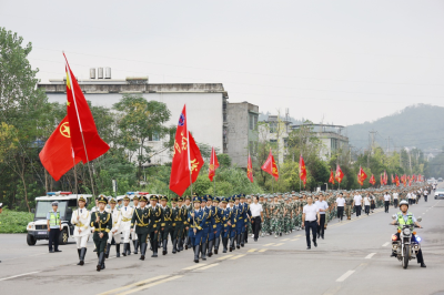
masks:
<svg viewBox="0 0 444 295"><path fill-rule="evenodd" d="M134 213L131 218L131 232L133 232L133 226L135 226L135 234L138 235L138 241L140 242L140 258L145 260L147 253L147 241L150 234L150 210L147 207L148 199L144 195L140 196L140 207L134 208Z"/></svg>

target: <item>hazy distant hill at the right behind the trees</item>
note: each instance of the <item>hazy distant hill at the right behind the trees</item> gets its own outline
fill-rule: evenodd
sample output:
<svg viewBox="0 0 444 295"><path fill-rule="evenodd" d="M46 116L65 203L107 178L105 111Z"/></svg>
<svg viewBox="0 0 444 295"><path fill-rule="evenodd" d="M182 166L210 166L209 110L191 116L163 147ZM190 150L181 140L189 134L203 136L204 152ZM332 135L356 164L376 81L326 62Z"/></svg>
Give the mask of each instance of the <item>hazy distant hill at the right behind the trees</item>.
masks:
<svg viewBox="0 0 444 295"><path fill-rule="evenodd" d="M418 148L423 151L444 146L444 108L415 104L374 122L347 126L350 143L357 149L369 146L370 131L376 131L375 142L387 146Z"/></svg>

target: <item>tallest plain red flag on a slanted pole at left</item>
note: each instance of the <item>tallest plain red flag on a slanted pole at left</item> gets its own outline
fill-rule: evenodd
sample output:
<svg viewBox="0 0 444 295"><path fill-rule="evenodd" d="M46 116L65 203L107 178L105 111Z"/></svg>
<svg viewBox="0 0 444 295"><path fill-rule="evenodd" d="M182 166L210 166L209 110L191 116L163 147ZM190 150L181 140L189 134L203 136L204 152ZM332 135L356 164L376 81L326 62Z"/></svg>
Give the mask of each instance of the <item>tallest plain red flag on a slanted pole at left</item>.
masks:
<svg viewBox="0 0 444 295"><path fill-rule="evenodd" d="M64 59L67 61L67 110L72 150L75 156L80 156L83 163L87 163L104 154L110 146L99 136L90 106L68 64L67 57Z"/></svg>

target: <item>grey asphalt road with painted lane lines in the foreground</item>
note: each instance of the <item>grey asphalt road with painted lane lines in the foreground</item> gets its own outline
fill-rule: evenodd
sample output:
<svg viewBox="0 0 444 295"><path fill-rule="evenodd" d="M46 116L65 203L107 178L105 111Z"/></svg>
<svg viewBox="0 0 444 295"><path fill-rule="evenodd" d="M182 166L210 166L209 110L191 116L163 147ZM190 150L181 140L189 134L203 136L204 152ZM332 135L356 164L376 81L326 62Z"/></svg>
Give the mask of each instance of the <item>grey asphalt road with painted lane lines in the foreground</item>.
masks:
<svg viewBox="0 0 444 295"><path fill-rule="evenodd" d="M444 200L433 196L411 206L422 216L426 268L411 261L403 269L391 254L391 216L374 214L333 221L325 240L307 251L304 232L279 238L249 238L244 248L193 263L191 250L141 262L139 255L115 258L95 271L89 243L87 264L77 266L75 245L48 253L48 243L28 246L26 235L0 235L1 294L444 294ZM147 253L148 254L148 253Z"/></svg>

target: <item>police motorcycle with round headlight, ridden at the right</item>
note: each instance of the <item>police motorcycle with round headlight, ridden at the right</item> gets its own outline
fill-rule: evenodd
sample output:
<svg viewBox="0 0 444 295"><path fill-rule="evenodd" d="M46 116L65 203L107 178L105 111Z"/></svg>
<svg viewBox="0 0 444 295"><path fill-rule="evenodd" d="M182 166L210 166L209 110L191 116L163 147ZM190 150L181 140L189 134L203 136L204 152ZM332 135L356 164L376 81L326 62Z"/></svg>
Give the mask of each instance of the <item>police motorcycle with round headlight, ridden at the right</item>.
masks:
<svg viewBox="0 0 444 295"><path fill-rule="evenodd" d="M396 220L396 215L393 215L392 218ZM417 222L421 221L422 218L418 217ZM398 225L398 223L395 224L395 226ZM421 237L416 235L414 227L417 226L414 224L404 224L402 230L397 230L400 238L396 234L392 235L392 250L396 255L396 258L402 263L404 269L408 267L408 262L411 260L416 260L416 254L421 250ZM415 240L412 240L412 235L415 235Z"/></svg>

